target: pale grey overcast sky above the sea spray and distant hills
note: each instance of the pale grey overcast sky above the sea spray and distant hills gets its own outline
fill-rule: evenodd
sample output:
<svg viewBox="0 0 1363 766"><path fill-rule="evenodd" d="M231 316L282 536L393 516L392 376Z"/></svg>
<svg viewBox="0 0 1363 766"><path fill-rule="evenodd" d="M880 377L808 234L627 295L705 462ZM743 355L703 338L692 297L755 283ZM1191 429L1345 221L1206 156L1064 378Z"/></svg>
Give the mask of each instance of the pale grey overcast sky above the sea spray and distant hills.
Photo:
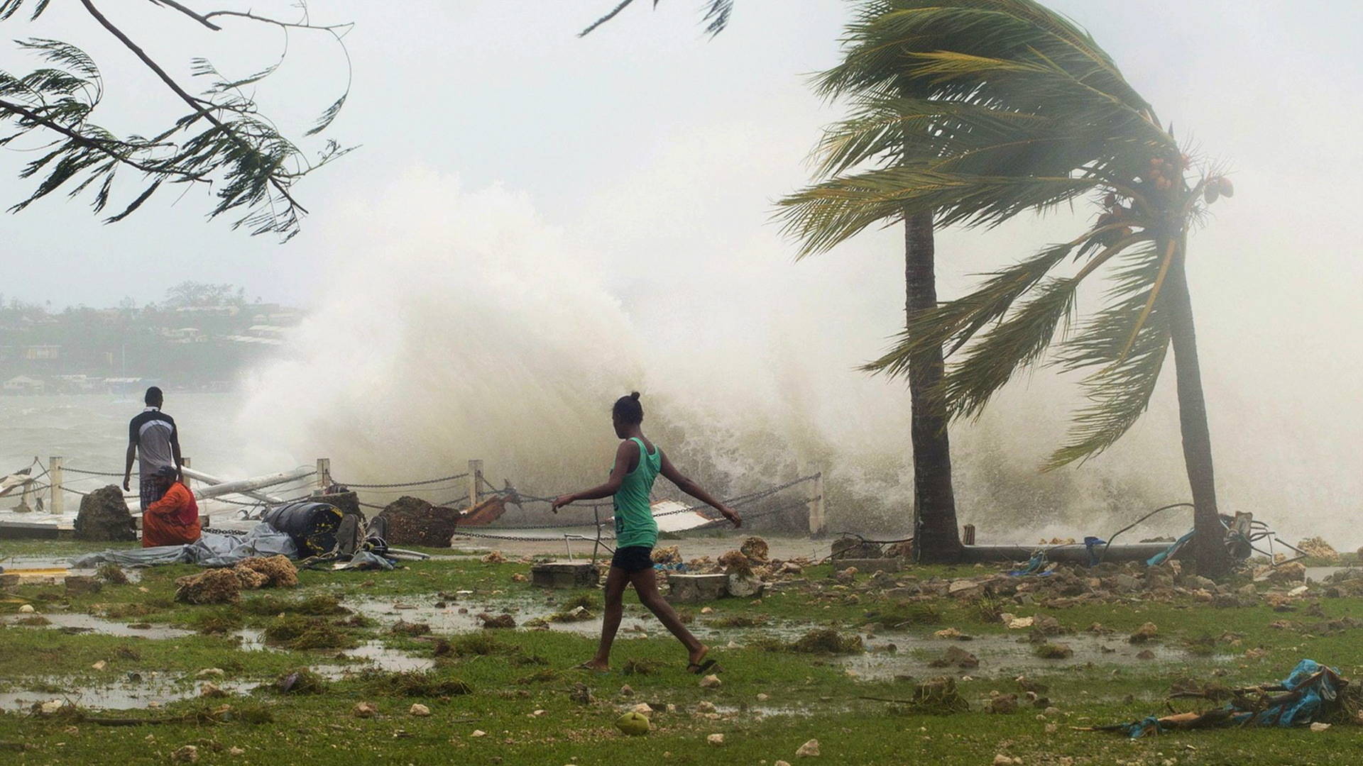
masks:
<svg viewBox="0 0 1363 766"><path fill-rule="evenodd" d="M331 135L361 149L300 184L297 194L313 211L301 236L278 247L269 237L232 233L224 219L204 224L210 200L202 191L174 206L164 195L114 226L99 225L80 203L50 199L0 218L0 258L20 266L0 289L55 305L108 305L124 296L154 300L169 284L200 279L309 303L309 284L335 259L326 232L342 203L364 203L413 169L457 174L469 188L500 183L523 191L547 222L605 245L602 228L630 221L586 214L622 189L639 207L675 206L676 187L656 185L652 172L679 170L676 153L686 151L683 170L695 188L683 194L707 203L679 209L701 213L680 228L703 230L698 245L752 236L770 200L804 180L804 154L819 127L837 116L808 93L803 75L836 60L845 4L739 0L732 26L710 40L696 25L699 0L664 0L652 12L641 0L590 37L575 37L611 4L313 0L315 19L356 22L346 38L354 86ZM1198 262L1216 258L1223 286L1322 290L1302 308L1313 312L1322 298L1343 297L1334 290L1359 269L1351 232L1360 199L1360 109L1341 94L1355 93L1363 79L1355 40L1363 4L1052 4L1094 34L1180 136L1194 136L1235 168L1242 196L1199 236L1197 251L1212 252L1194 259L1194 288L1202 278ZM40 23L7 22L4 37L59 37L95 52L109 79L104 121L110 125L147 131L179 113L78 4L53 5ZM270 5L289 12L284 0L252 4ZM203 53L247 71L278 50L270 29L236 23L214 35L144 3L105 3L105 10L180 71ZM263 102L297 117L297 125L330 102L343 74L334 46L298 33L292 41L292 59L263 89ZM0 49L0 65L11 71L26 61L10 46ZM297 110L281 106L288 101ZM23 155L4 154L0 168L11 180L0 194L18 200L30 181L8 170Z"/></svg>

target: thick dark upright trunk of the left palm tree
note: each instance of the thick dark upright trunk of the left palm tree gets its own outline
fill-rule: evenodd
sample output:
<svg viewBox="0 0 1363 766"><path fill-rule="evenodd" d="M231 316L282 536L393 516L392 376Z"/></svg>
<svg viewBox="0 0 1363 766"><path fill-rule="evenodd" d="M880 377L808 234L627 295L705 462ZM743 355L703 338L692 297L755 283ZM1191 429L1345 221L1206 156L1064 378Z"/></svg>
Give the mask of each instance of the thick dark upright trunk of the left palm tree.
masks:
<svg viewBox="0 0 1363 766"><path fill-rule="evenodd" d="M935 243L932 214L921 213L904 222L905 312L913 319L936 308ZM961 534L955 525L955 493L951 489L951 443L947 438L946 401L940 395L945 369L942 349L928 349L909 361L909 398L913 406L913 552L924 563L961 559Z"/></svg>

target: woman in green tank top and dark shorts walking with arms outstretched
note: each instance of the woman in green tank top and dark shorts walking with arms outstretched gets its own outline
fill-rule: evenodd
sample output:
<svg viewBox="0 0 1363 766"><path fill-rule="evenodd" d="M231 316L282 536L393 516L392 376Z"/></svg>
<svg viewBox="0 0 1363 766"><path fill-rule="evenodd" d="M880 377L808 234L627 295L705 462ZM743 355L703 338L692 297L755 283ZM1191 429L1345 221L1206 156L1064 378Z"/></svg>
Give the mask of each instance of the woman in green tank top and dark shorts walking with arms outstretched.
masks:
<svg viewBox="0 0 1363 766"><path fill-rule="evenodd" d="M662 454L662 450L649 442L641 428L643 405L639 403L638 391L628 397L620 397L615 402L611 418L615 423L615 435L623 439L615 451L611 478L600 487L560 495L553 500L553 510L557 512L563 506L577 500L615 496L616 549L615 557L611 560L611 571L605 578L601 643L596 657L583 662L582 668L602 672L611 669L611 643L615 641L616 631L620 630L620 616L624 612L624 587L634 585L634 590L639 594L639 602L647 607L686 646L687 671L703 673L714 665L714 660L705 657L710 647L701 643L682 624L672 605L658 593L658 581L653 574L653 545L658 541L658 522L653 519L653 508L649 506L653 481L661 473L687 495L713 506L724 514L724 518L733 522L733 526L741 526L743 519L733 508L716 500L701 485L683 476Z"/></svg>

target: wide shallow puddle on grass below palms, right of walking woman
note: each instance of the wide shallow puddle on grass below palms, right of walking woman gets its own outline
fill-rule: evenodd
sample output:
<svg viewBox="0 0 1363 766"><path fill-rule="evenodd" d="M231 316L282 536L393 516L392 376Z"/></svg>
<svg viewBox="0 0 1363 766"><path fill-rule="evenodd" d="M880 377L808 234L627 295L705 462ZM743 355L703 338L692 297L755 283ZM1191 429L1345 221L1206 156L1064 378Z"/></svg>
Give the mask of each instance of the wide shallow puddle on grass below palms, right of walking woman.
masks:
<svg viewBox="0 0 1363 766"><path fill-rule="evenodd" d="M878 634L867 641L868 646L883 646L894 643L897 652L867 652L842 657L838 662L855 671L859 676L870 680L889 680L898 675L915 677L928 677L940 675L955 676L1005 676L1022 672L1035 672L1052 668L1070 668L1093 662L1096 665L1130 665L1144 664L1216 664L1216 658L1194 658L1180 647L1161 643L1131 645L1122 637L1094 637L1088 634L1060 635L1052 639L1054 643L1063 643L1074 650L1071 657L1065 660L1043 660L1033 650L1037 645L1029 643L1020 635L983 635L973 641L943 641L936 638L923 638L908 634ZM949 646L964 649L979 658L977 668L934 668L931 661L940 657ZM1153 660L1138 660L1137 654L1149 650Z"/></svg>

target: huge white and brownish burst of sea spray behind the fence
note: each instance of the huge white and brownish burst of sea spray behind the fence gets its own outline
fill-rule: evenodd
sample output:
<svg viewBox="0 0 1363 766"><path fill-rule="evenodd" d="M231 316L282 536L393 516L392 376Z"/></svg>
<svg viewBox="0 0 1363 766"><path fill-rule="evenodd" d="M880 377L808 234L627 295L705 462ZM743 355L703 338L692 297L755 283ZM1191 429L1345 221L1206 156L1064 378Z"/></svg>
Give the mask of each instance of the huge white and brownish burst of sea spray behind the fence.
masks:
<svg viewBox="0 0 1363 766"><path fill-rule="evenodd" d="M523 194L424 173L345 218L315 309L248 387L240 425L262 469L327 455L338 480L398 481L481 458L493 482L556 493L604 478L609 405L641 390L647 432L720 493L823 469L833 532L908 530L908 393L853 369L893 331L898 289L878 279L874 301L840 297L872 284L867 270L883 259L842 274L792 266L773 241L747 254L770 262L762 269L717 270L709 258L690 284L622 285L612 263L661 256L582 248ZM819 311L834 298L887 305ZM1103 533L1186 495L1176 442L1148 435L1133 433L1115 461L1037 473L1063 433L1066 409L1047 399L1062 390L1040 379L1006 393L1011 412L955 427L960 519L980 525L981 541ZM1157 461L1142 453L1152 447Z"/></svg>

